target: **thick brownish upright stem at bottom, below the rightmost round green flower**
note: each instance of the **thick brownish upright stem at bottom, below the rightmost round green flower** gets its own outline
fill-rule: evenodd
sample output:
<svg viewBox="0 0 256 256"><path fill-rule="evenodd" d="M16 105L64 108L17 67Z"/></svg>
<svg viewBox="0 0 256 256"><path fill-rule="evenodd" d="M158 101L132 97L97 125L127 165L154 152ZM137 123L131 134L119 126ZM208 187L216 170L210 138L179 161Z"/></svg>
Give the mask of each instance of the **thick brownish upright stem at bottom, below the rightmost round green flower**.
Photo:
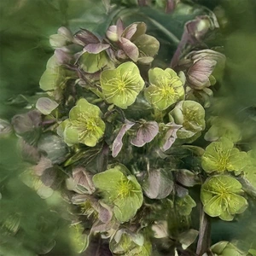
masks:
<svg viewBox="0 0 256 256"><path fill-rule="evenodd" d="M208 248L211 244L211 223L207 214L203 210L201 204L201 215L200 215L200 228L199 228L199 239L196 247L196 254L201 256L203 253L207 253Z"/></svg>

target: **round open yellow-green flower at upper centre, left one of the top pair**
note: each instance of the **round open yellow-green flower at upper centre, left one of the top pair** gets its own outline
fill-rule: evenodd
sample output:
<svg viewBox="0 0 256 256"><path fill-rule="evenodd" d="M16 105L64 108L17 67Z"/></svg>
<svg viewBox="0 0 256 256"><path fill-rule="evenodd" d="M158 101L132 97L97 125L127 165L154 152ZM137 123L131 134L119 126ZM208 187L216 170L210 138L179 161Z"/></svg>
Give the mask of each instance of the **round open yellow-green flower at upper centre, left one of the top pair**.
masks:
<svg viewBox="0 0 256 256"><path fill-rule="evenodd" d="M127 108L135 102L137 95L143 90L144 81L138 67L128 61L114 70L103 71L101 86L108 103L113 103L119 108Z"/></svg>

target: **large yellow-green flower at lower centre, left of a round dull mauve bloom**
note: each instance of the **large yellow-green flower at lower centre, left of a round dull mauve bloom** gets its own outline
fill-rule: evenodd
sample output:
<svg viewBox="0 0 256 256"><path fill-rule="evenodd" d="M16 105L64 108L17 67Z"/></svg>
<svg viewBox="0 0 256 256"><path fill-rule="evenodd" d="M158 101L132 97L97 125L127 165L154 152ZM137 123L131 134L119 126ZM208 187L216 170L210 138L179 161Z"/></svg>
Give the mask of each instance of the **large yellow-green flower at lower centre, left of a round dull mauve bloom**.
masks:
<svg viewBox="0 0 256 256"><path fill-rule="evenodd" d="M125 166L114 166L96 174L93 183L102 190L103 199L113 205L113 214L119 222L129 221L143 204L143 192L136 177L125 175Z"/></svg>

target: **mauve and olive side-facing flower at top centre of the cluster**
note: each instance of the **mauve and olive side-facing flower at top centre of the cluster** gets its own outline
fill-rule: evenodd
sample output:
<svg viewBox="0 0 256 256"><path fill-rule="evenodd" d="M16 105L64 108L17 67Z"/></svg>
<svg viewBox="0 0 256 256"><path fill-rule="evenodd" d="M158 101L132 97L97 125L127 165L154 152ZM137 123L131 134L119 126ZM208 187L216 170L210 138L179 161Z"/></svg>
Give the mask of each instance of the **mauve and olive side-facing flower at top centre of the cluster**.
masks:
<svg viewBox="0 0 256 256"><path fill-rule="evenodd" d="M121 20L116 25L109 26L107 37L119 45L118 57L128 56L131 61L149 64L160 48L159 41L145 34L147 26L143 22L135 22L124 28Z"/></svg>

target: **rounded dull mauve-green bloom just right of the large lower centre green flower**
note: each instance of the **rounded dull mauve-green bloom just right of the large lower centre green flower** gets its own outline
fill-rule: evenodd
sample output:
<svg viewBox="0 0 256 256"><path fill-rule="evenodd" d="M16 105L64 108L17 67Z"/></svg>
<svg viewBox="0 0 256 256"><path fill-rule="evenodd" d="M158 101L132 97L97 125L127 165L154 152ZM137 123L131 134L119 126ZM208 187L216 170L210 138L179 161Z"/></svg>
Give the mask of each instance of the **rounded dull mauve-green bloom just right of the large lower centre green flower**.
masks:
<svg viewBox="0 0 256 256"><path fill-rule="evenodd" d="M163 199L173 189L172 175L164 169L151 170L143 182L143 191L151 199Z"/></svg>

